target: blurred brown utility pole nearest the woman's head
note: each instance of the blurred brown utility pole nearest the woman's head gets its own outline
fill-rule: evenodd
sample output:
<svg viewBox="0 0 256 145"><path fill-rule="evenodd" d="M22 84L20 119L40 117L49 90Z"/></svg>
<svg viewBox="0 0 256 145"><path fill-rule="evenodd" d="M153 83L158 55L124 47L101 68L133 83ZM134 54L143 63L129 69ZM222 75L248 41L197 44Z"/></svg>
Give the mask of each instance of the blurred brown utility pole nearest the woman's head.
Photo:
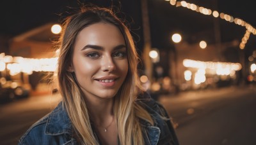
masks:
<svg viewBox="0 0 256 145"><path fill-rule="evenodd" d="M143 23L143 61L145 65L145 73L148 76L150 82L152 82L152 63L150 61L149 52L151 49L151 38L150 38L150 25L148 18L148 3L147 0L141 0L141 14Z"/></svg>

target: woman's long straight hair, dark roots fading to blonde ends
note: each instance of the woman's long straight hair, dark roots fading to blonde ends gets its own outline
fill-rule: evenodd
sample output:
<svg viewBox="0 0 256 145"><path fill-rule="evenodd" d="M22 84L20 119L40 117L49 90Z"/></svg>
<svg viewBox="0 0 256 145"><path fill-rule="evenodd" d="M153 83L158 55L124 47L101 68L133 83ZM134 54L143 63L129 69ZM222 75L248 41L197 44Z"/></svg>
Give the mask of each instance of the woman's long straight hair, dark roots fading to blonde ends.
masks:
<svg viewBox="0 0 256 145"><path fill-rule="evenodd" d="M85 27L99 22L115 25L125 39L127 46L127 59L129 71L124 83L115 95L113 112L118 125L118 137L121 144L144 144L144 128L140 120L152 124L152 118L143 107L136 101L141 91L141 83L138 76L138 53L134 46L129 29L125 26L113 11L108 8L82 8L79 13L68 17L63 23L61 34L60 56L58 60L58 83L63 97L63 107L67 109L68 116L72 121L74 132L81 144L99 144L93 135L90 124L90 116L83 98L84 94L77 84L74 72L67 68L72 63L72 54L77 34Z"/></svg>

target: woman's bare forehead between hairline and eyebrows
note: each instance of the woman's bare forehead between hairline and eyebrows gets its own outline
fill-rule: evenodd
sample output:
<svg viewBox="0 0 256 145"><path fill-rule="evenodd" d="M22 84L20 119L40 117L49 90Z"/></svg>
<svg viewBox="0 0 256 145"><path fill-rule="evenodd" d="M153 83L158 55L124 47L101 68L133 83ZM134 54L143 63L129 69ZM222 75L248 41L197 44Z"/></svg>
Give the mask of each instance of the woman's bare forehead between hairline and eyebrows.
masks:
<svg viewBox="0 0 256 145"><path fill-rule="evenodd" d="M89 25L77 35L76 46L84 45L125 45L124 37L118 27L100 22Z"/></svg>

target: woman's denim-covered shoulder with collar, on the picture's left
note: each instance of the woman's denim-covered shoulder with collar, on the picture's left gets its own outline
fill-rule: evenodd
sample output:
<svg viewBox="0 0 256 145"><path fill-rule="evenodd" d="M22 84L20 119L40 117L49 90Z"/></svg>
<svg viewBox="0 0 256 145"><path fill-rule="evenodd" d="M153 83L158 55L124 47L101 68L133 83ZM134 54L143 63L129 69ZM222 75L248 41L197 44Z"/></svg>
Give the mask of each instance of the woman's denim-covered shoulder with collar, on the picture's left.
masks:
<svg viewBox="0 0 256 145"><path fill-rule="evenodd" d="M67 142L67 134L71 134L72 125L65 109L59 104L51 113L36 121L20 137L19 144L47 144L48 141Z"/></svg>

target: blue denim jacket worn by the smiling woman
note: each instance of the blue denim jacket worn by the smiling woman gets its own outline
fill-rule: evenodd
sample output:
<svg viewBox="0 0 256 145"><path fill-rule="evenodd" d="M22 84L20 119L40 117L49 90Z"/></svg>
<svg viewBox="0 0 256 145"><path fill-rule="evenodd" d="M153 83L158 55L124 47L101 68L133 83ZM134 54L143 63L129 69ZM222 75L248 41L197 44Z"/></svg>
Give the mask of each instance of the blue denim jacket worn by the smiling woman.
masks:
<svg viewBox="0 0 256 145"><path fill-rule="evenodd" d="M163 116L168 118L164 107L151 99L147 93L138 101L154 120L153 126L147 121L141 121L141 125L145 127L147 132L143 135L145 144L178 145L179 142L172 123L170 120L163 120L162 118ZM29 128L20 138L19 144L78 144L72 134L74 134L72 123L68 118L67 111L63 109L62 102L60 102L51 113Z"/></svg>

